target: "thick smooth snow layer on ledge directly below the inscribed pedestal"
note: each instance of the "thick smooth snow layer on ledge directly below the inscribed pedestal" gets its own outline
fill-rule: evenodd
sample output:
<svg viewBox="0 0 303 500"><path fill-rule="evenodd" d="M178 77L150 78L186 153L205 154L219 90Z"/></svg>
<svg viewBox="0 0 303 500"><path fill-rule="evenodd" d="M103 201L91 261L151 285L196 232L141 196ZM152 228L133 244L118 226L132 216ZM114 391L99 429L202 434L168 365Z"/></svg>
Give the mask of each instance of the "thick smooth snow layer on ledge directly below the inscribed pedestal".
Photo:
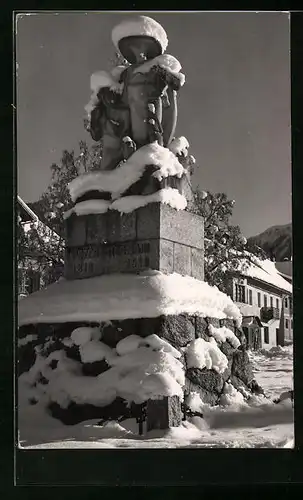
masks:
<svg viewBox="0 0 303 500"><path fill-rule="evenodd" d="M231 298L205 282L159 271L60 279L19 302L19 325L109 321L188 313L241 324Z"/></svg>

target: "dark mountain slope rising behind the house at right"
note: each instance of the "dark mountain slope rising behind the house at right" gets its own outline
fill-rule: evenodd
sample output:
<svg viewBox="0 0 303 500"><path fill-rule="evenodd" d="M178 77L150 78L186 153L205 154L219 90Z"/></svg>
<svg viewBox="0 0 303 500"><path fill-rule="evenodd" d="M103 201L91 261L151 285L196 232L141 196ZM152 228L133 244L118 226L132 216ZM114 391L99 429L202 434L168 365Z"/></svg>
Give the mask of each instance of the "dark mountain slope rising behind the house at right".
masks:
<svg viewBox="0 0 303 500"><path fill-rule="evenodd" d="M292 225L272 226L263 233L248 238L248 243L258 245L277 262L292 256Z"/></svg>

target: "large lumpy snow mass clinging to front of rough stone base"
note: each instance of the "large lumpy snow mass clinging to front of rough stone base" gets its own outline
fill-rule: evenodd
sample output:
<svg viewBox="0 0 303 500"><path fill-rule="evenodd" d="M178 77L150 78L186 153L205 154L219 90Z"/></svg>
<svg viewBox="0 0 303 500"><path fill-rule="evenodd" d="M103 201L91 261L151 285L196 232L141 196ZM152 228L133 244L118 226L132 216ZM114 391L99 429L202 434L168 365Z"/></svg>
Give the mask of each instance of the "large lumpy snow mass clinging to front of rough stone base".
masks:
<svg viewBox="0 0 303 500"><path fill-rule="evenodd" d="M169 342L150 335L141 339L145 346L140 346L137 336L132 335L112 349L92 338L91 330L77 328L72 341L77 342L83 363L105 359L108 369L87 377L82 364L70 359L63 349L43 356L38 347L34 365L19 377L19 390L27 405L31 400L45 407L55 402L67 408L71 402L106 406L116 397L134 403L175 395L183 399L184 369Z"/></svg>

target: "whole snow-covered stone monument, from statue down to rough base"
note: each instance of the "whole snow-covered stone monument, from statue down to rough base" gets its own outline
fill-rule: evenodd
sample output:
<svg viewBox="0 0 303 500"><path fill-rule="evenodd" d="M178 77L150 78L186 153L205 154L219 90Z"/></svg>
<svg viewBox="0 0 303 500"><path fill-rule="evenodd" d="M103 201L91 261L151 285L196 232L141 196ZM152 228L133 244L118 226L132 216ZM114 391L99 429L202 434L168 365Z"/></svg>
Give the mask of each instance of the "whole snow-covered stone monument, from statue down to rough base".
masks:
<svg viewBox="0 0 303 500"><path fill-rule="evenodd" d="M136 417L179 426L253 380L232 300L204 280L203 218L188 142L175 138L185 77L156 21L116 26L125 66L91 77L100 171L69 185L65 278L19 307L19 407L67 424Z"/></svg>

